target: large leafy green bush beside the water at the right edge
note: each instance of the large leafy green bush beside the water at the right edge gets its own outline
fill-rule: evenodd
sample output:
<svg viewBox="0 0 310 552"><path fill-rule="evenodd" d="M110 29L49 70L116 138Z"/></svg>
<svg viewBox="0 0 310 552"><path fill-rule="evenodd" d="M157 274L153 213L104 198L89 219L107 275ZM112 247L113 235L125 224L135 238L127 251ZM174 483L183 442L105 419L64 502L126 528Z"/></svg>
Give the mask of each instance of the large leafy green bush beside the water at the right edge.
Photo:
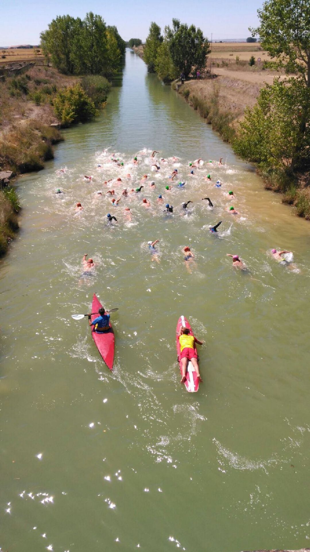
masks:
<svg viewBox="0 0 310 552"><path fill-rule="evenodd" d="M310 89L302 77L275 80L261 89L258 102L239 124L236 152L272 168L310 167Z"/></svg>

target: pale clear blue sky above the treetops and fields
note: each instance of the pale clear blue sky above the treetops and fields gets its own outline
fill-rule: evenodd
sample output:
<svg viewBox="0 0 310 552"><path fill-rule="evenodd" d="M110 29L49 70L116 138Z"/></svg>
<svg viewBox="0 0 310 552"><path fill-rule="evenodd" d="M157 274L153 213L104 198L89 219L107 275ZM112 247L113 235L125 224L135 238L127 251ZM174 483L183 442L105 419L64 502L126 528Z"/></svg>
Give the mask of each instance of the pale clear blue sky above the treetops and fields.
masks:
<svg viewBox="0 0 310 552"><path fill-rule="evenodd" d="M83 19L90 11L102 15L108 25L116 25L125 40L141 38L144 41L151 21L163 30L173 17L182 23L199 26L209 39L211 33L213 40L247 38L248 27L258 22L256 10L262 3L262 0L7 1L1 7L0 46L39 44L40 31L45 30L56 15L70 14Z"/></svg>

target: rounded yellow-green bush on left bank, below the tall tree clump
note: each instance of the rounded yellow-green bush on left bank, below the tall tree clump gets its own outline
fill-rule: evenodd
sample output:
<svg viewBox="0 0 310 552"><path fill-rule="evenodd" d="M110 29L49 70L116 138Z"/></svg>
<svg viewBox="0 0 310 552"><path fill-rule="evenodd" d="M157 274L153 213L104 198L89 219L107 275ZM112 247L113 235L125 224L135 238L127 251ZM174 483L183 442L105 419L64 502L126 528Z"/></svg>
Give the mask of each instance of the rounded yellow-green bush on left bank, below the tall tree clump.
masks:
<svg viewBox="0 0 310 552"><path fill-rule="evenodd" d="M85 123L97 114L93 100L88 97L81 84L60 90L55 96L54 108L62 126Z"/></svg>

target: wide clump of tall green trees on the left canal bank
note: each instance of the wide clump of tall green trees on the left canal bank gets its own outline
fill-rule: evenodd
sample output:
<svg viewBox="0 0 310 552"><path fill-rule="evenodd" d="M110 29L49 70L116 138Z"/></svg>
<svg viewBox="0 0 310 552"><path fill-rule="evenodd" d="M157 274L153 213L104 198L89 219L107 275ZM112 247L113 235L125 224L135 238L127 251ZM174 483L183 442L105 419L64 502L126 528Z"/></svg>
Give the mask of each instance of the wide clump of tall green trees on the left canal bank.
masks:
<svg viewBox="0 0 310 552"><path fill-rule="evenodd" d="M58 15L40 37L44 55L65 75L109 77L125 55L126 43L116 26L106 25L92 12L84 19Z"/></svg>

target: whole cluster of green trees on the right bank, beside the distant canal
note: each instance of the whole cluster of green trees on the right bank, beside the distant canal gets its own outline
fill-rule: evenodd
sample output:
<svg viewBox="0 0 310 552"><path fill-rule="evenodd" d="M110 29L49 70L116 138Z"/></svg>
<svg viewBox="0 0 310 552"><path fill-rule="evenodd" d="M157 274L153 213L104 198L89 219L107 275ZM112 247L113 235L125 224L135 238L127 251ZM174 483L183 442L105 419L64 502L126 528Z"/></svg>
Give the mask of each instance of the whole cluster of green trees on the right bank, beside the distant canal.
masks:
<svg viewBox="0 0 310 552"><path fill-rule="evenodd" d="M165 26L163 35L157 23L151 23L143 59L148 72L156 72L164 82L169 82L181 73L187 78L204 70L209 52L209 41L201 29L173 19L172 27Z"/></svg>

